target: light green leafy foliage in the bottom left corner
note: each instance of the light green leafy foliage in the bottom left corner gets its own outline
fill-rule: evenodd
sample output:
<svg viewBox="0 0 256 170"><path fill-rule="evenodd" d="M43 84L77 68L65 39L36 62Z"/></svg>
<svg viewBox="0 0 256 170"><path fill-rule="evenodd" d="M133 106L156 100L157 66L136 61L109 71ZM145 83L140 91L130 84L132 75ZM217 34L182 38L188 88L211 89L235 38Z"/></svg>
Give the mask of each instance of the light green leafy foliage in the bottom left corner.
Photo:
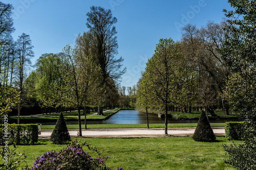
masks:
<svg viewBox="0 0 256 170"><path fill-rule="evenodd" d="M0 169L18 169L20 163L26 163L26 155L24 152L17 152L18 146L15 144L12 145L3 145L0 148Z"/></svg>

